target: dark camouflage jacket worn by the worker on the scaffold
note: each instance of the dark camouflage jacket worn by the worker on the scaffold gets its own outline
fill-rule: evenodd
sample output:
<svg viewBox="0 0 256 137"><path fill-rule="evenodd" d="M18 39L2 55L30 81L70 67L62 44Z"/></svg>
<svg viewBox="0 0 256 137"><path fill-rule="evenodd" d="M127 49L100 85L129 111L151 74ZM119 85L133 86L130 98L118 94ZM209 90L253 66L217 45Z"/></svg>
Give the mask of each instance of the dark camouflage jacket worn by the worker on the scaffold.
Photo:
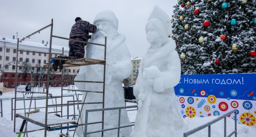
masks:
<svg viewBox="0 0 256 137"><path fill-rule="evenodd" d="M69 34L69 38L73 37L81 37L84 38L85 41L89 39L89 33L94 33L97 30L95 25L90 24L84 20L78 20L71 28L71 32Z"/></svg>

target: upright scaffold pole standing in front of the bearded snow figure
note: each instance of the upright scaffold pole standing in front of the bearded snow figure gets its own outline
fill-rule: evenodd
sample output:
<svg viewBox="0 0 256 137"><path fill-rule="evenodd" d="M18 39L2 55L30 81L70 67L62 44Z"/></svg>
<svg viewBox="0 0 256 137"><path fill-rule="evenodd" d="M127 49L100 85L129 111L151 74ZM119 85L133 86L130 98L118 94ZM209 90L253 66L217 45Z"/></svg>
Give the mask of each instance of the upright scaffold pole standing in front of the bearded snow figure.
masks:
<svg viewBox="0 0 256 137"><path fill-rule="evenodd" d="M107 37L105 37L105 50L104 50L104 72L103 72L103 93L102 93L102 108L104 108L104 102L105 102L105 73L106 73L106 53L107 53ZM104 111L102 111L102 127L101 129L104 129ZM103 137L103 131L101 132L101 137Z"/></svg>

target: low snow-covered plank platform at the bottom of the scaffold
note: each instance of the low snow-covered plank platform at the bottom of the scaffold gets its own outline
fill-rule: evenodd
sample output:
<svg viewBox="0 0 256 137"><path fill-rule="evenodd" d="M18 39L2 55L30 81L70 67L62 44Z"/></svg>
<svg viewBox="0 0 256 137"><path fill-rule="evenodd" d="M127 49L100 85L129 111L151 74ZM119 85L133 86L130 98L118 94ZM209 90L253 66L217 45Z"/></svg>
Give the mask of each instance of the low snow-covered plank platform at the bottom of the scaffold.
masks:
<svg viewBox="0 0 256 137"><path fill-rule="evenodd" d="M17 113L16 117L24 119L24 113ZM27 114L26 114L27 117ZM45 127L45 112L39 111L36 113L29 114L28 121L31 123L34 123L36 125L39 125L41 127ZM69 120L66 118L61 118L58 116L55 116L54 114L48 114L47 117L47 126L52 125L61 125L61 124L76 124L76 121Z"/></svg>

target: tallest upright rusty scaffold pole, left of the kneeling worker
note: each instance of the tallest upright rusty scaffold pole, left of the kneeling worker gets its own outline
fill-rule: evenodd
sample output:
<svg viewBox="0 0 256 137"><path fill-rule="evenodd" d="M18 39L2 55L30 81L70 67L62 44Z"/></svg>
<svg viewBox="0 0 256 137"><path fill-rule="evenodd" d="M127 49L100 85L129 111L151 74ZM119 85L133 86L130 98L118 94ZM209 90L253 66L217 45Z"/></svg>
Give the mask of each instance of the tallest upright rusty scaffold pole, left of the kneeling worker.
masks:
<svg viewBox="0 0 256 137"><path fill-rule="evenodd" d="M47 86L46 86L46 103L45 103L45 127L44 127L44 137L47 137L47 113L48 113L48 94L49 94L49 80L50 80L50 62L52 54L52 30L53 30L53 19L51 25L51 35L50 35L50 47L49 47L49 57L48 57L48 75L47 75Z"/></svg>

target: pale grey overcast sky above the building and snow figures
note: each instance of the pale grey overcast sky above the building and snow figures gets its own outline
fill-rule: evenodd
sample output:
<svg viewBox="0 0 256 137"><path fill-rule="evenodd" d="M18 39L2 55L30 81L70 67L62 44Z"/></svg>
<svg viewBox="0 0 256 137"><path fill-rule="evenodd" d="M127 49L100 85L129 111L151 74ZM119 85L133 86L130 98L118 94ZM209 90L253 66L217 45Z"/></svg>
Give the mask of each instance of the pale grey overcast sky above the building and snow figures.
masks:
<svg viewBox="0 0 256 137"><path fill-rule="evenodd" d="M149 46L145 25L155 5L170 17L177 0L0 0L0 37L18 38L48 25L53 19L53 35L69 37L76 17L93 22L95 15L112 10L119 20L118 32L126 36L126 45L132 58L142 57ZM50 28L27 41L49 41ZM54 45L68 47L67 40L53 38Z"/></svg>

